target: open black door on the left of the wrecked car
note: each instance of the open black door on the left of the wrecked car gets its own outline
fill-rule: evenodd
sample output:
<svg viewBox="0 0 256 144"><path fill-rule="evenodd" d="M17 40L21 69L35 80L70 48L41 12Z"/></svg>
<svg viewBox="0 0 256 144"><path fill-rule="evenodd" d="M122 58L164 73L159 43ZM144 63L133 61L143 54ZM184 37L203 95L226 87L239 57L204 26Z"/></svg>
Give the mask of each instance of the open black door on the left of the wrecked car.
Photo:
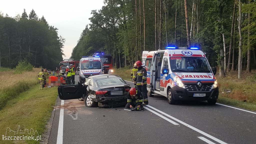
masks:
<svg viewBox="0 0 256 144"><path fill-rule="evenodd" d="M62 100L81 98L83 95L82 84L61 85L58 87L58 95Z"/></svg>

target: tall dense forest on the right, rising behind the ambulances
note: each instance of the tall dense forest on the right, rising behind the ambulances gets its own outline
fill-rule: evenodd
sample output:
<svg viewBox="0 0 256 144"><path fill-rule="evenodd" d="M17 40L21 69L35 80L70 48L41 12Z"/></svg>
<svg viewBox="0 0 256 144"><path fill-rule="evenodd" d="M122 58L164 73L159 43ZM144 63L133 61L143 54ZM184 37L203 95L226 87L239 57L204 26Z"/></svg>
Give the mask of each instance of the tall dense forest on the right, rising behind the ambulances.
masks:
<svg viewBox="0 0 256 144"><path fill-rule="evenodd" d="M256 68L254 0L104 0L93 10L71 58L111 53L116 68L143 50L198 46L220 76Z"/></svg>

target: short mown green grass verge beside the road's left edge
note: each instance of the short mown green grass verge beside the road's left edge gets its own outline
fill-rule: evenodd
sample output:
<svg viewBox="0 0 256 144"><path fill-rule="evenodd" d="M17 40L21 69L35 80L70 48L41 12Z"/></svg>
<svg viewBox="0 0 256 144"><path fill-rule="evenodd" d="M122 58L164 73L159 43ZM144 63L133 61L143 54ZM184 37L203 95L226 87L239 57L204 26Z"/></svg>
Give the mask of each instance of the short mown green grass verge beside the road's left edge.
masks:
<svg viewBox="0 0 256 144"><path fill-rule="evenodd" d="M15 99L9 100L0 111L0 133L6 134L7 127L17 133L18 127L22 132L33 128L39 135L45 131L45 125L51 117L57 98L57 87L39 89L39 84L32 86L22 92ZM29 136L26 134L14 135L7 132L9 136ZM6 135L6 136L7 136ZM36 134L37 135L37 134ZM0 143L39 143L36 140L3 140Z"/></svg>

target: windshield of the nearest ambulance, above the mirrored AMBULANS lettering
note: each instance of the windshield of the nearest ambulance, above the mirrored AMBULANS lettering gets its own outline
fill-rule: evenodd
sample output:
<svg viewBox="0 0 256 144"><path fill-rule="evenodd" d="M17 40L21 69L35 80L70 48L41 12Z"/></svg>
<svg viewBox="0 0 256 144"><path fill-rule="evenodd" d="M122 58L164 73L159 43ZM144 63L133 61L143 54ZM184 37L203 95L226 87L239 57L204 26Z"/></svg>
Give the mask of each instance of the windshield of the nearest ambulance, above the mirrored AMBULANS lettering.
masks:
<svg viewBox="0 0 256 144"><path fill-rule="evenodd" d="M170 65L174 73L211 73L205 57L170 57Z"/></svg>

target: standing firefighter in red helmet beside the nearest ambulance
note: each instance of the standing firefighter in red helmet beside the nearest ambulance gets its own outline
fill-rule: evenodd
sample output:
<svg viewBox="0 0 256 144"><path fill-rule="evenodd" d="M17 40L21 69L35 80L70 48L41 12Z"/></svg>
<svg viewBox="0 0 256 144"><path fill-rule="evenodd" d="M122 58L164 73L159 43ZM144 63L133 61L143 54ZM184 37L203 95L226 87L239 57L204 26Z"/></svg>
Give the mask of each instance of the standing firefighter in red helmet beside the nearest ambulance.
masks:
<svg viewBox="0 0 256 144"><path fill-rule="evenodd" d="M140 90L143 95L143 105L147 105L147 71L142 66L143 64L140 60L136 61L134 64L134 67L138 69L134 79L134 84L136 84L136 88Z"/></svg>

